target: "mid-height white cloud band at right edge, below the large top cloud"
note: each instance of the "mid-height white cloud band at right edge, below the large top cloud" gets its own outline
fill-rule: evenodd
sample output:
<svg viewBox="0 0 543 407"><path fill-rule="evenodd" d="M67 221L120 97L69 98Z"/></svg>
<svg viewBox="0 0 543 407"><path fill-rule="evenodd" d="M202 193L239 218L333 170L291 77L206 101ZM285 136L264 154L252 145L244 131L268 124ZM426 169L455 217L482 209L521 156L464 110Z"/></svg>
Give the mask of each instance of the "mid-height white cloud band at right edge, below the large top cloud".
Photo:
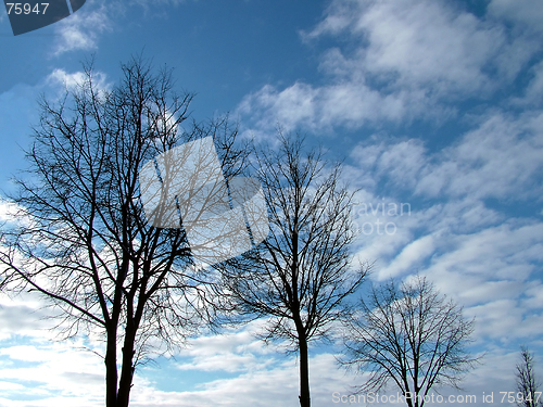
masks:
<svg viewBox="0 0 543 407"><path fill-rule="evenodd" d="M541 194L543 176L543 112L518 117L494 113L439 152L428 151L420 140L394 141L370 138L351 153L359 177L384 180L389 186L426 198L513 202ZM364 178L365 179L365 178Z"/></svg>

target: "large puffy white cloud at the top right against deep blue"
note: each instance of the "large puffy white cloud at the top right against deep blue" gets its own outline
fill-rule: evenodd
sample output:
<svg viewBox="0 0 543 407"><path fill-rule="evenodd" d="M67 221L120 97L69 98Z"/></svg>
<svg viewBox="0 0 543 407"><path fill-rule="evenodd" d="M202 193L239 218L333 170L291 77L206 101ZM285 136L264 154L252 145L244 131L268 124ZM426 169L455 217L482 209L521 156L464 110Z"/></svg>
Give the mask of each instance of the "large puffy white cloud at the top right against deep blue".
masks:
<svg viewBox="0 0 543 407"><path fill-rule="evenodd" d="M490 98L510 84L541 44L437 0L333 1L324 20L302 34L332 36L324 52L324 84L266 85L238 106L257 130L286 130L454 116L454 103Z"/></svg>

